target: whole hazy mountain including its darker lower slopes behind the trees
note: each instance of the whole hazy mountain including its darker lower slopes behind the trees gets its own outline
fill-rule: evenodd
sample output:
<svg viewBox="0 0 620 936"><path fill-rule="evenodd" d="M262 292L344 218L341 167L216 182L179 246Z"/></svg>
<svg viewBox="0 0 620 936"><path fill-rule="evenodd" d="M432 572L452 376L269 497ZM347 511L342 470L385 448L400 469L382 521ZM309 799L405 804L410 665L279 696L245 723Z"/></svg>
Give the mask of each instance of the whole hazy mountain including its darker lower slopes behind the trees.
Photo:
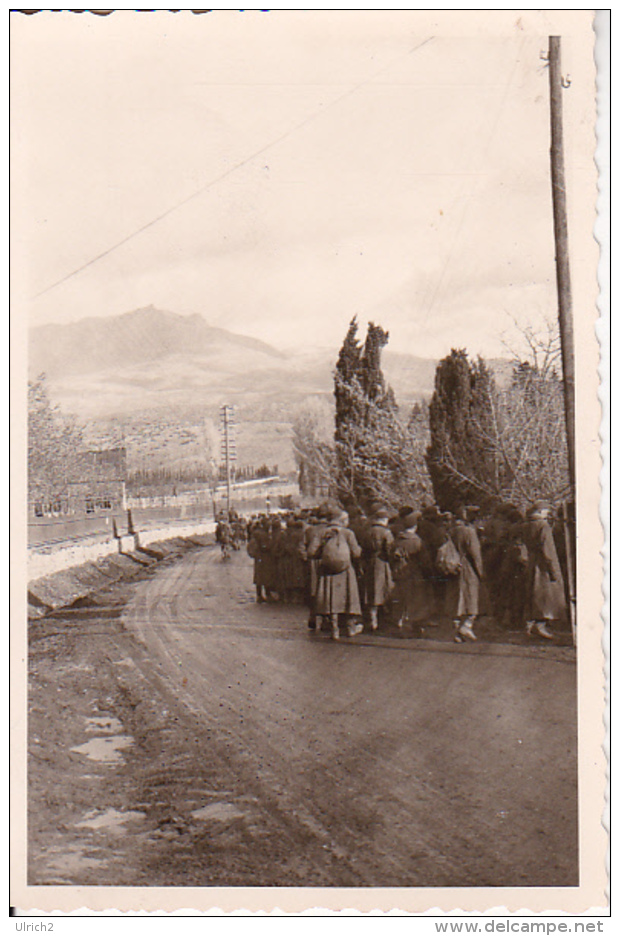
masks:
<svg viewBox="0 0 620 936"><path fill-rule="evenodd" d="M31 329L29 373L45 373L55 402L90 434L105 438L121 426L130 460L132 452L141 464L204 459L205 431L213 450L219 407L230 403L238 414L240 464L290 471L291 425L309 397L331 406L337 353L285 353L214 328L201 315L148 306ZM402 409L431 396L436 365L386 349L383 369Z"/></svg>

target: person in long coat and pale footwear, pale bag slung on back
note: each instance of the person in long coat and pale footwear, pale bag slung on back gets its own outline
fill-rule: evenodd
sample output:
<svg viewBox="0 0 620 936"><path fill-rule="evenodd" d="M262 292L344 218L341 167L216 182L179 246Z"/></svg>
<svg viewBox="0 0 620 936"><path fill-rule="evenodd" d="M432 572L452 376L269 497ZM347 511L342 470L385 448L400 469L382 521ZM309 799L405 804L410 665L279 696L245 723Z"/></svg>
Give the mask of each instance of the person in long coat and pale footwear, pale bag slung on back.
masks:
<svg viewBox="0 0 620 936"><path fill-rule="evenodd" d="M483 576L482 550L476 528L471 522L475 507L459 507L452 530L452 542L461 558L458 576L458 603L454 626L457 643L476 640L474 622L478 617L480 580Z"/></svg>

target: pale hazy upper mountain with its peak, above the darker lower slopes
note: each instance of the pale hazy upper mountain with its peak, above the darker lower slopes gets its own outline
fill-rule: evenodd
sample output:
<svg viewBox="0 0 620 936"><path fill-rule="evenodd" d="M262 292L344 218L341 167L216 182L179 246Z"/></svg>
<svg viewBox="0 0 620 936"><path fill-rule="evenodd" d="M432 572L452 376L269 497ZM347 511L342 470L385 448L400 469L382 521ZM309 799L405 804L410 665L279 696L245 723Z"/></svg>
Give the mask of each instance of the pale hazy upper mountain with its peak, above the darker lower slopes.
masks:
<svg viewBox="0 0 620 936"><path fill-rule="evenodd" d="M79 416L150 409L257 411L332 393L337 349L287 354L266 342L149 306L110 318L44 325L30 332L29 373L47 375L55 398ZM435 361L387 351L385 371L401 402L432 392Z"/></svg>

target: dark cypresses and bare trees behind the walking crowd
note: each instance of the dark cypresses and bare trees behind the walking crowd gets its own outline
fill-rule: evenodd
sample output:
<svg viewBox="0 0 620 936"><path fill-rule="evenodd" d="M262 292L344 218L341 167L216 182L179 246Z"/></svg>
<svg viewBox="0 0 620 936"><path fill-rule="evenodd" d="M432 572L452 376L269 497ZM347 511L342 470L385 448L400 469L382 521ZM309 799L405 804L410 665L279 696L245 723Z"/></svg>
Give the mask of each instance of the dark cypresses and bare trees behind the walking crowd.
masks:
<svg viewBox="0 0 620 936"><path fill-rule="evenodd" d="M332 427L312 407L293 426L304 493L362 508L434 501L442 510L569 497L556 335L525 330L530 353L514 357L502 386L483 358L452 349L437 365L430 403L403 414L381 369L389 334L372 322L363 343L357 333L354 318L334 369Z"/></svg>

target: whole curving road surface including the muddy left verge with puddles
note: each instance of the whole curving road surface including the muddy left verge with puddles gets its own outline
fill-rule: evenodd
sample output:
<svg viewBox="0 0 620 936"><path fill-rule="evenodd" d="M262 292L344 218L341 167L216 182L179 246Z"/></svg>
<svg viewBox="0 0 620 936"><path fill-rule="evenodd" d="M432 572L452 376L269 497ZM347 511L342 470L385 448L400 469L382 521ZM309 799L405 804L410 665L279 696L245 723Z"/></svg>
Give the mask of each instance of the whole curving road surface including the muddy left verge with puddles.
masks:
<svg viewBox="0 0 620 936"><path fill-rule="evenodd" d="M29 881L577 884L568 649L311 636L250 560L32 628Z"/></svg>

